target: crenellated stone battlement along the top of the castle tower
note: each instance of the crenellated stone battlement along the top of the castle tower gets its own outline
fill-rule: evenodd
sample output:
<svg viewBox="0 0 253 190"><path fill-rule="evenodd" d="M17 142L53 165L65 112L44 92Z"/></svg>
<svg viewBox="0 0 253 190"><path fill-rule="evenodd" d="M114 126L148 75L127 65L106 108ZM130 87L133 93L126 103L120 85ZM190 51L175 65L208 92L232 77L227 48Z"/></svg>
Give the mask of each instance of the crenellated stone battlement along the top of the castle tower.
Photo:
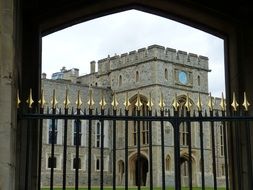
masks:
<svg viewBox="0 0 253 190"><path fill-rule="evenodd" d="M98 74L105 74L116 69L136 65L141 62L160 60L208 70L208 57L187 53L160 45L151 45L137 51L98 60Z"/></svg>

